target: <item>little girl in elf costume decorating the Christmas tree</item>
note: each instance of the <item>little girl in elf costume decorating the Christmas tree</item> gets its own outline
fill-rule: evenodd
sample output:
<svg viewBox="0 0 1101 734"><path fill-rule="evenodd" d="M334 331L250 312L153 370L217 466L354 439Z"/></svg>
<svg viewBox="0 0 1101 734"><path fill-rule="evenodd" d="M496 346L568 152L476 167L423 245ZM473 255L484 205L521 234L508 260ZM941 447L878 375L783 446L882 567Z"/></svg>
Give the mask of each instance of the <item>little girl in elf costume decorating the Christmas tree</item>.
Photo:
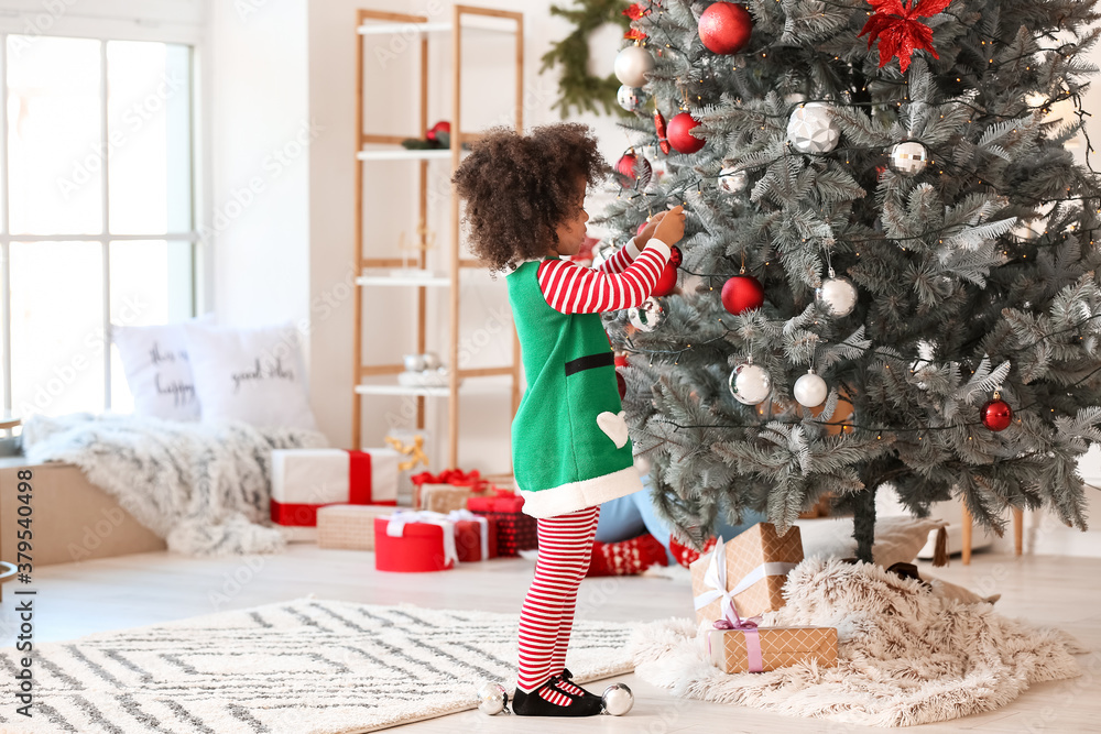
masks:
<svg viewBox="0 0 1101 734"><path fill-rule="evenodd" d="M570 682L566 648L599 505L642 489L600 313L642 304L684 235L676 207L597 270L562 260L584 244L585 193L607 172L587 127L553 124L528 135L489 131L451 179L472 251L491 271L510 271L527 377L512 460L524 512L538 518L539 551L520 617L512 710L522 716L600 713L600 697Z"/></svg>

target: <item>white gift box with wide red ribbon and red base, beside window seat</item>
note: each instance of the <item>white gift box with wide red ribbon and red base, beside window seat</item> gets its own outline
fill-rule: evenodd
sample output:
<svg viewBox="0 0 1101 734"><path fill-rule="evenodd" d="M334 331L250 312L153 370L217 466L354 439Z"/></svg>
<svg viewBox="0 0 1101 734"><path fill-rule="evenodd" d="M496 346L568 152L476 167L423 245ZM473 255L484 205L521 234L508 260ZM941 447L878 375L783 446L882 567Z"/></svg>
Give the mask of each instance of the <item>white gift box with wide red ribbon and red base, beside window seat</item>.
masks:
<svg viewBox="0 0 1101 734"><path fill-rule="evenodd" d="M271 519L291 540L315 540L320 507L393 505L399 458L391 449L274 449Z"/></svg>

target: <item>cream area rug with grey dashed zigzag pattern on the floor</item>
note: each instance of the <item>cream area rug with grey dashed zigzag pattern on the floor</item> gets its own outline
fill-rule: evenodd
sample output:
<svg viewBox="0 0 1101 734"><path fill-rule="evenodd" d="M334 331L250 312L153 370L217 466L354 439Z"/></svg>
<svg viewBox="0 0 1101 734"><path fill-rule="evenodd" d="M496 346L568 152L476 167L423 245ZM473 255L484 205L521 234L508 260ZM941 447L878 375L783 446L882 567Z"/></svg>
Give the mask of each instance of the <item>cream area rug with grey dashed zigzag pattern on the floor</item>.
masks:
<svg viewBox="0 0 1101 734"><path fill-rule="evenodd" d="M33 717L15 713L24 655L0 649L0 732L353 734L475 708L515 680L517 616L313 598L36 645ZM631 628L578 622L581 681L626 672Z"/></svg>

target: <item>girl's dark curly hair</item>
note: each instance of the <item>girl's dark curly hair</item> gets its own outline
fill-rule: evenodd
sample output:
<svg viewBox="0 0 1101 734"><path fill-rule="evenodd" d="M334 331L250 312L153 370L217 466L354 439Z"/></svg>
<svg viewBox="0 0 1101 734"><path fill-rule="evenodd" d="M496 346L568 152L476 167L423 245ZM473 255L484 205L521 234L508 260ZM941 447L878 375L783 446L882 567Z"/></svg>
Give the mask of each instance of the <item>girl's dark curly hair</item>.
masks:
<svg viewBox="0 0 1101 734"><path fill-rule="evenodd" d="M467 201L471 251L491 272L542 258L577 207L578 178L588 186L608 173L587 125L548 124L527 135L488 130L451 177Z"/></svg>

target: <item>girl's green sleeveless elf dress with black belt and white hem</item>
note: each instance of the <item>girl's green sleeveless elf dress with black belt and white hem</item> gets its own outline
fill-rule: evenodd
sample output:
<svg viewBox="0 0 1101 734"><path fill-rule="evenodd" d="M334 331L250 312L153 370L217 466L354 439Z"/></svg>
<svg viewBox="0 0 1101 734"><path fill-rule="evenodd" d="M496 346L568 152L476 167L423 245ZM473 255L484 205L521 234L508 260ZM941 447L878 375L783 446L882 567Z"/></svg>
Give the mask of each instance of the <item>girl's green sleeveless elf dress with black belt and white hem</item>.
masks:
<svg viewBox="0 0 1101 734"><path fill-rule="evenodd" d="M553 517L636 492L642 479L600 315L550 307L539 263L506 276L527 376L512 423L512 465L524 512Z"/></svg>

